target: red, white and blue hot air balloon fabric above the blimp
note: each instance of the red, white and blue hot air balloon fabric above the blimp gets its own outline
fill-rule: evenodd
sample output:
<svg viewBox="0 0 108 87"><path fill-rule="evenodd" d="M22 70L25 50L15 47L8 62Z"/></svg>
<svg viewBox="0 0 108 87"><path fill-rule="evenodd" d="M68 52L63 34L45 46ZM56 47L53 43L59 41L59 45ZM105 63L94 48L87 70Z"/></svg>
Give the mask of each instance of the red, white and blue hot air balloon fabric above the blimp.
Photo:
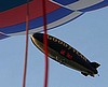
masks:
<svg viewBox="0 0 108 87"><path fill-rule="evenodd" d="M85 12L108 5L107 0L45 0L46 26L54 29ZM16 34L25 34L26 12L29 11L29 33L43 31L43 10L41 0L0 0L0 40Z"/></svg>

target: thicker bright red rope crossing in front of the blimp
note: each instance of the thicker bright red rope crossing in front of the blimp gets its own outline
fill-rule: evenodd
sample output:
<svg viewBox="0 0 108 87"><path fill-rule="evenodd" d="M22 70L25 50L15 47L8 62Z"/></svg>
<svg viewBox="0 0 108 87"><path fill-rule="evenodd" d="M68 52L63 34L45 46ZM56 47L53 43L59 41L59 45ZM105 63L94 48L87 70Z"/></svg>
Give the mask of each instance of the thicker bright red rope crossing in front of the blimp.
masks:
<svg viewBox="0 0 108 87"><path fill-rule="evenodd" d="M48 59L48 30L46 30L46 3L45 0L42 0L42 10L43 10L43 29L44 29L44 56L45 56L45 70L44 70L44 86L48 87L49 81L49 59Z"/></svg>

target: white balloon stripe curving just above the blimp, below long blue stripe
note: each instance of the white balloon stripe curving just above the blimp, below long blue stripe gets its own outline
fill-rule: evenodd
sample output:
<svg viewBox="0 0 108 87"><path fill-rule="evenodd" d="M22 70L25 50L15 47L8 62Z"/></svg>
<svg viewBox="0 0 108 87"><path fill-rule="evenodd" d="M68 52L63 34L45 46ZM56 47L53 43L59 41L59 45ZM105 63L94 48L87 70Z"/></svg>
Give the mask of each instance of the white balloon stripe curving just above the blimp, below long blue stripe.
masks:
<svg viewBox="0 0 108 87"><path fill-rule="evenodd" d="M53 23L49 24L48 25L48 29L51 29L53 27L59 26L62 24L65 24L65 23L76 18L77 16L79 16L81 14L82 14L82 12L78 12L78 11L77 12L72 12L71 14L67 15L66 17L63 17L63 18L60 18L60 19L58 19L56 21L53 21ZM35 32L41 32L41 31L43 31L43 26L39 27L39 28L36 28L36 29L29 30L29 34L35 33ZM17 32L17 33L11 33L11 34L8 34L8 35L19 35L19 34L25 34L25 31Z"/></svg>

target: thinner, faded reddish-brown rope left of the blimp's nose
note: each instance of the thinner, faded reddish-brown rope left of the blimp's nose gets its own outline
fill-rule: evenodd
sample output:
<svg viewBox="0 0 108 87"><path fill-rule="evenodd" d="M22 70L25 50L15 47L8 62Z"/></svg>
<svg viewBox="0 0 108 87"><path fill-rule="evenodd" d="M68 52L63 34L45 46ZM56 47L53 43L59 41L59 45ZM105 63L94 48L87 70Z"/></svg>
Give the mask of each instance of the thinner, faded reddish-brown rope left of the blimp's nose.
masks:
<svg viewBox="0 0 108 87"><path fill-rule="evenodd" d="M27 13L26 13L26 47L25 47L25 60L24 60L24 75L23 87L26 87L26 74L27 74L27 60L28 60L28 31L29 31L29 0L27 0Z"/></svg>

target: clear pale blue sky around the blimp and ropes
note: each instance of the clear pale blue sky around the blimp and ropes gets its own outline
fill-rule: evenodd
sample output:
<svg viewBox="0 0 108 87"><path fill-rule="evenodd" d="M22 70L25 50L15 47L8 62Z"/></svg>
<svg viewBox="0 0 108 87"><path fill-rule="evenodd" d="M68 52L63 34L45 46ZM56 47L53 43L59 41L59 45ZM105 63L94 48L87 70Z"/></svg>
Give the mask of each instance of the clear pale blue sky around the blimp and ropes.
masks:
<svg viewBox="0 0 108 87"><path fill-rule="evenodd" d="M108 8L87 12L77 19L52 29L56 37L100 63L99 76L83 76L50 59L49 87L108 87ZM22 87L25 35L0 41L0 87ZM29 39L26 87L43 87L44 55Z"/></svg>

